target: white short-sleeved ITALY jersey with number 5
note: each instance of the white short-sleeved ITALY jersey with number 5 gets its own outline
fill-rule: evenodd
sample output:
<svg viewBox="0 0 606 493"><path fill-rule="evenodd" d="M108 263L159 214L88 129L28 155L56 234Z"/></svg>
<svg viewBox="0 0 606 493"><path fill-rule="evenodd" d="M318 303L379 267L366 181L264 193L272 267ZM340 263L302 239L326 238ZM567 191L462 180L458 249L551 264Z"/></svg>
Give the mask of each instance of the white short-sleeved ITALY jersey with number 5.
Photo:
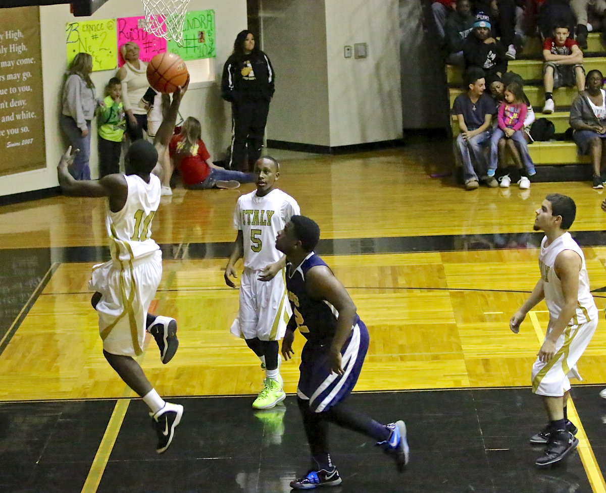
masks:
<svg viewBox="0 0 606 493"><path fill-rule="evenodd" d="M301 214L293 197L274 188L264 197L256 190L242 195L236 203L233 226L244 235L244 267L260 270L278 262L282 253L276 250L276 236L291 216Z"/></svg>

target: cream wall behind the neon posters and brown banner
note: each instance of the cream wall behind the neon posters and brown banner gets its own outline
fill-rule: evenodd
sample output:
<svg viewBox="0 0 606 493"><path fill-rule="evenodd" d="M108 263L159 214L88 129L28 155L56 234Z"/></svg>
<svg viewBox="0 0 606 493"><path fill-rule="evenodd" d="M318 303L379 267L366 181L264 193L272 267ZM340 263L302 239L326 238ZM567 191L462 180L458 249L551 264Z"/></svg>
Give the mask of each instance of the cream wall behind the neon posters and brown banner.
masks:
<svg viewBox="0 0 606 493"><path fill-rule="evenodd" d="M215 10L216 29L216 82L201 88L191 88L181 104L183 117L195 116L202 123L202 139L214 157L221 157L231 136L231 108L220 96L223 64L233 50L236 34L247 26L246 0L191 0L188 10ZM10 10L0 9L0 15L10 15ZM111 19L144 15L140 0L108 0L90 18L82 20ZM65 24L76 19L69 12L69 5L40 7L42 38L42 82L44 85L44 127L47 168L27 173L0 177L0 196L32 190L56 187L56 164L64 151L65 141L59 129L61 113L61 88L64 81ZM113 70L96 71L92 74L99 96ZM90 167L93 177L98 176L96 151L96 127L93 122Z"/></svg>

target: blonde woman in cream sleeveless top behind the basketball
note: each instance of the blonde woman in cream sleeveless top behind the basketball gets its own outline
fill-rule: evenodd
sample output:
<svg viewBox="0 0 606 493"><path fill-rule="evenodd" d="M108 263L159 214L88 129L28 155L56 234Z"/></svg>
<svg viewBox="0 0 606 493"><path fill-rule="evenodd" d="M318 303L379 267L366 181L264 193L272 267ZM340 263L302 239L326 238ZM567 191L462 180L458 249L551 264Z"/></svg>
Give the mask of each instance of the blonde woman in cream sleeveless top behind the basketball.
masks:
<svg viewBox="0 0 606 493"><path fill-rule="evenodd" d="M127 114L126 131L131 141L143 138L147 131L147 110L142 98L149 87L147 63L139 60L139 45L133 41L120 47L124 65L118 70L122 82L122 101Z"/></svg>

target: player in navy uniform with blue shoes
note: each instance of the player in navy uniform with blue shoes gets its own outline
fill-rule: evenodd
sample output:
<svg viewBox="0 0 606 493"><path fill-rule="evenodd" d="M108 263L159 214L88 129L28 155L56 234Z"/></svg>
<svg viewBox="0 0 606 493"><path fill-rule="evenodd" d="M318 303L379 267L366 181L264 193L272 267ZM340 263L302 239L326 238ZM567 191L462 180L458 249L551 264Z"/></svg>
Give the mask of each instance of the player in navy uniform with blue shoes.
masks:
<svg viewBox="0 0 606 493"><path fill-rule="evenodd" d="M408 463L403 421L382 425L345 402L368 350L368 331L347 290L313 253L319 238L318 225L298 215L276 237L276 248L286 254L286 288L293 309L282 340L284 359L294 354L296 329L307 339L301 352L297 402L312 460L310 471L291 481L295 489L341 483L328 453L329 422L375 439L395 459L399 472Z"/></svg>

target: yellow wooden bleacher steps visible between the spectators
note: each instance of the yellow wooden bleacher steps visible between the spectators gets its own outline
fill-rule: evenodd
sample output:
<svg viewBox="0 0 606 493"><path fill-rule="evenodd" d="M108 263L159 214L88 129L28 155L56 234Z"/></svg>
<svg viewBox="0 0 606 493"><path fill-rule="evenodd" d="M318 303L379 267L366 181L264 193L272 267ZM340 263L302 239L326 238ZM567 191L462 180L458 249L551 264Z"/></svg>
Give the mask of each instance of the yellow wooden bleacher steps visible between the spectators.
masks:
<svg viewBox="0 0 606 493"><path fill-rule="evenodd" d="M590 33L587 40L588 49L583 52L585 73L597 68L602 73L606 72L606 47L602 45L598 33ZM519 74L524 79L524 92L528 100L533 105L536 119L545 117L552 121L556 127L556 140L550 142L534 142L528 145L528 151L537 167L562 167L563 165L583 164L587 168L587 173L578 173L575 171L570 179L588 179L591 176L591 170L588 164L588 156L579 156L576 150L576 144L573 141L564 140L564 133L570 127L568 124L568 110L576 97L576 87L561 87L553 91L553 99L556 103L556 111L551 114L542 114L545 103L545 93L542 81L543 59L542 45L538 38L530 39L524 45L524 52L521 59L509 61L508 71ZM446 65L446 76L448 82L448 96L450 107L452 107L454 98L462 92L462 69L453 65ZM488 91L488 88L487 88ZM451 119L451 130L453 136L458 135L459 125L456 119ZM545 169L545 171L547 171ZM564 171L564 170L562 170ZM553 174L553 173L552 173ZM541 168L538 168L538 176L541 175ZM554 179L561 179L562 174L556 173ZM547 176L545 179L549 179Z"/></svg>

